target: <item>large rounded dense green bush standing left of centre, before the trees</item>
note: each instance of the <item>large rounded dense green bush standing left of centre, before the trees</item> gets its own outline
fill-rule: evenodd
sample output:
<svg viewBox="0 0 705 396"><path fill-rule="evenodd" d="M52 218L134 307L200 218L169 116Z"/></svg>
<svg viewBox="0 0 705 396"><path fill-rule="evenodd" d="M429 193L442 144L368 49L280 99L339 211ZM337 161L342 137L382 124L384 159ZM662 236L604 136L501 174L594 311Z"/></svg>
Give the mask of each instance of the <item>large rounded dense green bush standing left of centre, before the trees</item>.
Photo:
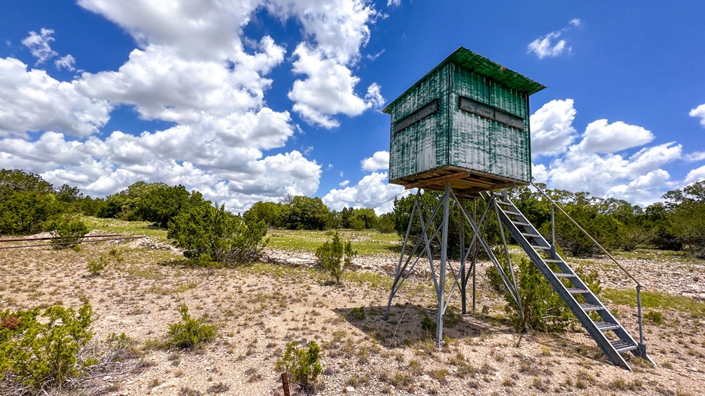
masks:
<svg viewBox="0 0 705 396"><path fill-rule="evenodd" d="M259 259L267 240L264 222L245 223L240 216L208 205L190 206L168 223L167 237L187 259L237 264Z"/></svg>

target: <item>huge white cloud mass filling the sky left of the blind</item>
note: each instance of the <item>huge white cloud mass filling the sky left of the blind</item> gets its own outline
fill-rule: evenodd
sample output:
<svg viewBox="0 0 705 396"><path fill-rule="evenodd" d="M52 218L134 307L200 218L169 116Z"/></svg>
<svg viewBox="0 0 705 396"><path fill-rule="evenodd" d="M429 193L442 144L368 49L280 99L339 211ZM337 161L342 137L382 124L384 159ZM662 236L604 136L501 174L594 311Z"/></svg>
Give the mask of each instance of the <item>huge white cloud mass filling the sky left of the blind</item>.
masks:
<svg viewBox="0 0 705 396"><path fill-rule="evenodd" d="M55 185L66 182L93 196L138 180L183 184L244 211L258 200L313 195L319 188L321 165L307 158L312 147L268 152L303 132L290 111L331 128L340 122L336 116L384 105L379 84L359 87L353 71L379 17L367 0L78 0L78 5L116 23L132 35L136 48L119 68L79 70L71 81L0 58L4 168L40 173ZM244 28L264 12L295 20L302 40L247 37ZM73 56L51 49L53 34L31 32L23 44L37 64L54 58L57 69L75 71ZM297 80L290 87L291 109L275 111L265 95L272 70L285 62ZM102 130L117 106L171 124Z"/></svg>

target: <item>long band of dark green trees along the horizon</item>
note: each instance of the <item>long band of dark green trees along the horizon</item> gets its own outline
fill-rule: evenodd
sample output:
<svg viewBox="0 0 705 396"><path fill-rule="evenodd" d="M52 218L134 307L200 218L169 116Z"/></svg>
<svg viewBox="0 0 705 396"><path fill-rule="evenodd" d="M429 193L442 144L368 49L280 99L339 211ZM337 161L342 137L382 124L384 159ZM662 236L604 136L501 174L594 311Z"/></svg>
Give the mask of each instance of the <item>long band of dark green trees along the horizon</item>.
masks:
<svg viewBox="0 0 705 396"><path fill-rule="evenodd" d="M572 218L582 225L602 245L626 251L637 247L685 250L705 258L705 180L672 190L661 202L645 208L621 199L593 197L588 192L569 192L546 189L546 194ZM528 187L509 190L510 198L541 231L551 236L551 204L539 192ZM439 194L424 192L422 200L432 207ZM0 234L29 235L56 226L56 219L71 214L126 221L149 221L154 226L170 230L172 237L188 234L191 239L208 243L198 228L218 228L213 232L233 233L256 230L255 235L266 234L268 228L290 230L330 230L351 228L374 229L382 233L406 232L413 196L395 199L390 213L377 216L373 209L329 209L318 197L287 195L280 202L257 202L244 214L231 214L223 206L214 206L197 191L188 191L183 185L135 182L127 189L105 198L84 196L77 187L51 183L34 173L20 170L0 170ZM465 202L472 213L472 201ZM450 216L449 239L451 256L460 252L460 214ZM412 225L412 238L419 235L418 221ZM465 228L471 237L469 227ZM252 234L252 232L249 232ZM573 256L595 254L596 247L568 218L556 213L556 235L563 252ZM486 225L486 236L498 243L499 227L491 220ZM467 239L466 239L467 240ZM183 242L185 243L185 242ZM436 244L437 245L437 244ZM458 247L455 247L458 245ZM199 256L199 249L192 256ZM218 249L215 249L218 250ZM199 253L201 252L201 253ZM217 255L217 254L216 254ZM216 259L216 257L211 257Z"/></svg>

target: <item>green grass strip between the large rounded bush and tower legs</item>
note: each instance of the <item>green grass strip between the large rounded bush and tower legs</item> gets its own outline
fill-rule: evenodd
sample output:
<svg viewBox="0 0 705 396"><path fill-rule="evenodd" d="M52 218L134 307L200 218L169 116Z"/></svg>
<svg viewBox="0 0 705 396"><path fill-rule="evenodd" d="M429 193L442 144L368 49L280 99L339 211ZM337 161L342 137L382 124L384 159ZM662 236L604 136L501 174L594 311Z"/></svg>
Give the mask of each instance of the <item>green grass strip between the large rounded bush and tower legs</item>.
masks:
<svg viewBox="0 0 705 396"><path fill-rule="evenodd" d="M383 234L375 230L338 230L341 240L349 240L359 254L399 252L401 244L396 234ZM315 252L329 241L332 230L269 230L269 247L281 250Z"/></svg>

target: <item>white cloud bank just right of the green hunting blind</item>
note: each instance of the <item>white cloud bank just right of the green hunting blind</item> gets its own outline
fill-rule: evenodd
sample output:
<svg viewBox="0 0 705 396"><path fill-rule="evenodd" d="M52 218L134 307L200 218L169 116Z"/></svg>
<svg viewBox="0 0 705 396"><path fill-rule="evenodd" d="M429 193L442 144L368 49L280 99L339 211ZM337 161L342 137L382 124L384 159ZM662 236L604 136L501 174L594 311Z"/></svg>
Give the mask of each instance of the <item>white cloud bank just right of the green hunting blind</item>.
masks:
<svg viewBox="0 0 705 396"><path fill-rule="evenodd" d="M683 159L681 144L646 146L654 140L649 130L607 120L589 123L580 140L573 142L577 139L572 125L575 114L572 100L566 99L550 101L532 115L532 153L537 162L532 165L534 180L546 182L550 188L587 191L642 206L677 187L663 167ZM536 154L553 158L540 163Z"/></svg>

